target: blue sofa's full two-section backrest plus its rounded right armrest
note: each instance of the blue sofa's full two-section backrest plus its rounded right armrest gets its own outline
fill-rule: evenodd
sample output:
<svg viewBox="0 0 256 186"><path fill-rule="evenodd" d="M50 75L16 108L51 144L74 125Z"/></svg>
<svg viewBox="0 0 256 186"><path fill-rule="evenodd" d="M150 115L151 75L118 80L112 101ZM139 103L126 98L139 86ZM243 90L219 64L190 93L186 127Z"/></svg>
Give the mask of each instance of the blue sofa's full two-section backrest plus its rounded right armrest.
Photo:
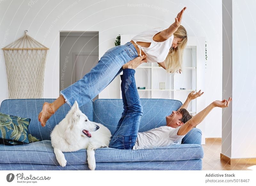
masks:
<svg viewBox="0 0 256 186"><path fill-rule="evenodd" d="M30 118L28 132L42 140L50 140L50 134L70 110L68 104L61 106L57 112L48 120L45 127L38 121L38 114L42 110L44 102L53 102L55 99L16 99L4 100L1 103L0 112ZM173 110L180 108L182 103L178 100L167 99L141 99L143 116L141 117L139 132L166 125L165 116L170 115ZM108 127L113 133L123 112L121 99L98 99L79 107L87 115L88 119L101 123ZM200 129L191 130L183 139L184 144L201 144L202 132Z"/></svg>

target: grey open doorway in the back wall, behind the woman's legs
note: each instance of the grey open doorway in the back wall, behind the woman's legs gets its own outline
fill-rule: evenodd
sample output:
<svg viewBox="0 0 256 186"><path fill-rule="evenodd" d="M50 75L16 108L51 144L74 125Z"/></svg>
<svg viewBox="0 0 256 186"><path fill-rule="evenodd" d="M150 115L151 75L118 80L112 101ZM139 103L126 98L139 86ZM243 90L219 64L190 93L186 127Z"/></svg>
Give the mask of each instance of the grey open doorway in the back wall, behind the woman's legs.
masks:
<svg viewBox="0 0 256 186"><path fill-rule="evenodd" d="M99 32L60 32L60 91L83 78L98 62Z"/></svg>

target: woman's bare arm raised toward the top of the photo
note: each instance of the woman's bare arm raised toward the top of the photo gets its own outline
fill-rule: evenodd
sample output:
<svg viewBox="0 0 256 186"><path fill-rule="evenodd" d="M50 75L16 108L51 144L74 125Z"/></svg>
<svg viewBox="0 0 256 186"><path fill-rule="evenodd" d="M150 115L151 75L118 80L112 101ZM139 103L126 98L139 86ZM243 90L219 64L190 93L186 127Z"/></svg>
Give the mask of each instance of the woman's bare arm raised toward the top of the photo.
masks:
<svg viewBox="0 0 256 186"><path fill-rule="evenodd" d="M181 25L181 19L182 19L182 14L183 12L186 10L186 7L184 7L177 15L177 17L175 18L175 22L172 23L172 25L163 30L162 32L157 33L154 37L153 40L157 41L157 42L162 42L167 40L168 38L170 38L174 32L177 31L177 29L180 27Z"/></svg>

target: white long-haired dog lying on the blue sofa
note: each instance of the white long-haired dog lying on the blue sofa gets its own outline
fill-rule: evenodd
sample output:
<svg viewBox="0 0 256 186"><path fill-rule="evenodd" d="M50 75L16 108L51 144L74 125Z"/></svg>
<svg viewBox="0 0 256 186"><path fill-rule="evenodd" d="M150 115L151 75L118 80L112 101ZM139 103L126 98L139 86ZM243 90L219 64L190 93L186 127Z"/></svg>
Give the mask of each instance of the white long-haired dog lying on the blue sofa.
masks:
<svg viewBox="0 0 256 186"><path fill-rule="evenodd" d="M91 122L74 105L66 117L54 127L51 133L52 147L60 166L65 167L67 160L62 152L87 149L87 161L91 170L95 170L95 152L97 148L108 147L111 132L100 123Z"/></svg>

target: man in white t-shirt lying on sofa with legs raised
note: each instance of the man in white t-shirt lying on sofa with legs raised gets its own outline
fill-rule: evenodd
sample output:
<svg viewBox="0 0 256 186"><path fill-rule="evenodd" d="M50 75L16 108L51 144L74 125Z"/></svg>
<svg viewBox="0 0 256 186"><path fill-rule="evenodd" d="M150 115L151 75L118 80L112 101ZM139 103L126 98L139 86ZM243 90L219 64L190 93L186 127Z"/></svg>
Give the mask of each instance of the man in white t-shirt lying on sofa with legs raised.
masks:
<svg viewBox="0 0 256 186"><path fill-rule="evenodd" d="M201 123L214 107L228 107L232 100L229 98L228 100L213 101L204 110L191 117L186 110L189 102L203 94L201 90L196 93L193 91L188 94L187 100L177 111L172 111L171 115L166 116L166 126L138 133L143 110L134 79L134 69L146 61L145 56L140 56L123 66L121 91L124 112L117 124L116 131L111 137L109 143L111 148L136 150L181 144L182 138Z"/></svg>

